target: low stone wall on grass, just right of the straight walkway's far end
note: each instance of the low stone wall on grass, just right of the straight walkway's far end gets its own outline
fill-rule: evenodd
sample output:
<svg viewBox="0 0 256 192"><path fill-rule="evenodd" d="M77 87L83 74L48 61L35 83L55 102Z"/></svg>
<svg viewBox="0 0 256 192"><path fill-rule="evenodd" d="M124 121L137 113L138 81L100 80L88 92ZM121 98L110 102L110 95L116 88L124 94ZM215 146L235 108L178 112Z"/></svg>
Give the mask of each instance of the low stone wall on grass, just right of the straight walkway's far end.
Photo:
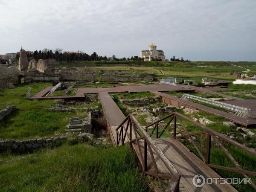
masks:
<svg viewBox="0 0 256 192"><path fill-rule="evenodd" d="M120 99L120 102L125 105L132 105L132 106L143 106L149 105L155 102L161 102L162 99L160 97L145 97L141 99Z"/></svg>

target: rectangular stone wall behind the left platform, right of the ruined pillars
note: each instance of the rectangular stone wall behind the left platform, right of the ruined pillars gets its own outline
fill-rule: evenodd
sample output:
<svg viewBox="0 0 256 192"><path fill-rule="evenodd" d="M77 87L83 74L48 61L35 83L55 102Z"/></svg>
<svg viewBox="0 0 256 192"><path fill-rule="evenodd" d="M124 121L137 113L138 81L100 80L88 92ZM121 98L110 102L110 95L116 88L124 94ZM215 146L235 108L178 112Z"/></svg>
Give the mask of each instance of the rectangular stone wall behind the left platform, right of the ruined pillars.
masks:
<svg viewBox="0 0 256 192"><path fill-rule="evenodd" d="M61 70L58 72L62 81L97 81L97 74L86 70Z"/></svg>

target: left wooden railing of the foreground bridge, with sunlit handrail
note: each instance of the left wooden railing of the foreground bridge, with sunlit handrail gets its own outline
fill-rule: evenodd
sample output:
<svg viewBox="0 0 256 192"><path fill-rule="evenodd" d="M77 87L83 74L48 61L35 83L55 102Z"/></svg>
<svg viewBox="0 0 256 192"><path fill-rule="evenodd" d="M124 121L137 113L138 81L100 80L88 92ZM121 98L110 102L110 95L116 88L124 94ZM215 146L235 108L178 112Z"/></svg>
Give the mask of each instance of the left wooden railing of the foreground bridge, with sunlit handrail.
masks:
<svg viewBox="0 0 256 192"><path fill-rule="evenodd" d="M116 145L123 145L126 142L129 142L137 153L144 174L156 177L160 182L162 191L179 191L180 174L177 172L177 169L175 169L132 114L129 114L116 128ZM161 161L165 172L159 169L157 161ZM163 179L169 180L167 189L164 186Z"/></svg>

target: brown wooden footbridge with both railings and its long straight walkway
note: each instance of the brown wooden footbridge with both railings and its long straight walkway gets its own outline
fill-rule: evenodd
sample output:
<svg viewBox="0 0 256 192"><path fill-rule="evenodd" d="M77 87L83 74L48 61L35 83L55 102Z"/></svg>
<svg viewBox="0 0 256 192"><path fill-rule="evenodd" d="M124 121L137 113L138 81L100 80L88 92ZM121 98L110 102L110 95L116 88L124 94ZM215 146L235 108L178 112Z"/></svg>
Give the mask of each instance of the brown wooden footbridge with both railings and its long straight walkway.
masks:
<svg viewBox="0 0 256 192"><path fill-rule="evenodd" d="M239 172L245 178L249 178L250 175L256 175L256 172L244 170L227 151L223 143L229 143L256 156L256 151L253 149L247 148L177 112L143 128L132 114L125 117L108 93L99 93L99 97L108 122L108 131L113 144L119 146L129 143L137 154L144 174L156 177L162 191L236 191L236 189L229 184L219 184L220 181L216 184L204 184L200 188L196 187L193 184L193 177L195 175L203 175L205 178L221 178L221 176L211 168ZM183 121L188 121L202 128L203 131L189 133L183 125ZM171 122L173 122L172 132L168 130ZM185 134L181 136L176 135L177 122L185 132ZM165 137L163 137L163 135L165 135ZM166 135L168 137L166 137ZM198 144L193 140L193 137L200 135L204 136L203 138L207 143L204 153L200 151ZM198 152L199 157L189 151L189 149L179 141L179 139L184 138L189 139L192 146ZM211 164L210 151L212 143L213 145L217 145L220 150L224 151L224 154L234 163L236 168ZM254 183L252 183L252 186L256 189Z"/></svg>

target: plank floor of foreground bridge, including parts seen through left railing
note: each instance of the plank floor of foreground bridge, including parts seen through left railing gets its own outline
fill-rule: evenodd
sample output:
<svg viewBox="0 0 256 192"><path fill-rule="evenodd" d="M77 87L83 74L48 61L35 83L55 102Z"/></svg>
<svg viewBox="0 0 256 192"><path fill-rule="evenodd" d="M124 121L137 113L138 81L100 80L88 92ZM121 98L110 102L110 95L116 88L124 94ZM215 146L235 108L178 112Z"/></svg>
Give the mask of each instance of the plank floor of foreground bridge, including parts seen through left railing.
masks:
<svg viewBox="0 0 256 192"><path fill-rule="evenodd" d="M216 172L209 168L202 160L200 160L195 154L189 151L180 141L174 138L154 139L157 147L163 151L163 154L169 159L173 166L180 173L180 191L194 191L194 192L236 192L236 189L229 184L205 184L201 188L197 188L192 183L192 178L195 175L204 175L204 177L218 177ZM144 154L144 140L139 140L140 149ZM137 156L140 157L139 148L136 142L132 143L132 147ZM153 149L152 149L153 150ZM156 154L153 150L153 154L157 163L157 168L160 172L166 173L166 166L159 159L156 158ZM140 160L140 159L139 159ZM141 161L141 160L140 160ZM151 157L148 151L148 171L154 171L154 167L151 163Z"/></svg>

